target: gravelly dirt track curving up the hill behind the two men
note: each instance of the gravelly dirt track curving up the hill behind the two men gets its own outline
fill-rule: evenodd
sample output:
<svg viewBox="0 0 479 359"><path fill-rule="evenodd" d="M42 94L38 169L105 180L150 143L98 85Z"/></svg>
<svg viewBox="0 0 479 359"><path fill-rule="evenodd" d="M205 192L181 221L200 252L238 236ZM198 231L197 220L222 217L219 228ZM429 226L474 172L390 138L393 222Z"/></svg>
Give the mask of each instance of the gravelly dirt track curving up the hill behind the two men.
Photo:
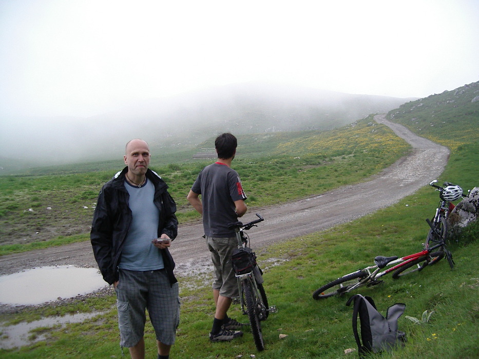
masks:
<svg viewBox="0 0 479 359"><path fill-rule="evenodd" d="M301 201L257 210L265 220L250 231L255 249L349 222L390 206L443 172L449 157L446 147L419 137L404 126L387 121L386 115L376 115L374 119L403 137L413 147L411 153L379 175L369 178L367 182L344 186ZM244 222L253 219L256 219L253 212L242 218ZM210 261L201 238L202 224L182 225L178 233L177 239L171 245L171 253L177 263L176 272L191 274L198 270L204 271ZM97 266L89 242L84 242L2 256L0 274L52 265Z"/></svg>

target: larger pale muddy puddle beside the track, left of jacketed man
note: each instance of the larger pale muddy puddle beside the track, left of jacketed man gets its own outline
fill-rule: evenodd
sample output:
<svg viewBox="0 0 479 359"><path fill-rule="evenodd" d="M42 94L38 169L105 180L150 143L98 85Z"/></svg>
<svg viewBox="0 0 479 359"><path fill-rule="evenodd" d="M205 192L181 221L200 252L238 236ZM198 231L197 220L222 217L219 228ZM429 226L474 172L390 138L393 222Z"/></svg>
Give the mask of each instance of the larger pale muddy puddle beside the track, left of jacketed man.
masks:
<svg viewBox="0 0 479 359"><path fill-rule="evenodd" d="M94 292L107 286L96 268L39 267L0 276L0 303L37 305Z"/></svg>

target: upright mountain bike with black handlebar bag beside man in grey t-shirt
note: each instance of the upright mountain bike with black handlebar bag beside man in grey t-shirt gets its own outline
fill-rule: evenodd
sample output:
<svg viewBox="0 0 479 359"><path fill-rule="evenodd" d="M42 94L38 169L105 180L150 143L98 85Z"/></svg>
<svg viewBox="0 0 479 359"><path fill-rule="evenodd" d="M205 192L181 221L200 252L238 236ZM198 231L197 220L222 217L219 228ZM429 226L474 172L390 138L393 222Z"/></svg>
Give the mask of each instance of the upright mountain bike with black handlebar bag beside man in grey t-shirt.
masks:
<svg viewBox="0 0 479 359"><path fill-rule="evenodd" d="M236 233L238 249L232 255L232 264L236 272L240 304L243 314L247 314L250 320L251 331L258 351L264 349L261 321L266 320L270 314L270 307L263 287L262 271L256 263L256 254L247 247L249 236L244 232L256 224L264 221L263 217L256 213L258 220L243 224L235 222L228 224L228 228Z"/></svg>

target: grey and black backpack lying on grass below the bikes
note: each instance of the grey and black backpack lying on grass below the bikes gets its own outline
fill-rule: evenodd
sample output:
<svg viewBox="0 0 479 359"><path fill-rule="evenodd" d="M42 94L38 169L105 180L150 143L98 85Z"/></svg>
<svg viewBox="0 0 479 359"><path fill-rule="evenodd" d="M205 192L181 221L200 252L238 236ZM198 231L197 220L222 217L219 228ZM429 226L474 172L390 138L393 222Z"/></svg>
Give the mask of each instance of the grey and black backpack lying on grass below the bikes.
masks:
<svg viewBox="0 0 479 359"><path fill-rule="evenodd" d="M406 305L396 303L388 308L386 318L376 309L374 301L369 296L353 295L346 303L354 301L353 334L358 346L359 356L381 350L389 351L396 346L404 346L406 334L397 330L397 320L404 313ZM357 317L361 325L361 341L357 330Z"/></svg>

